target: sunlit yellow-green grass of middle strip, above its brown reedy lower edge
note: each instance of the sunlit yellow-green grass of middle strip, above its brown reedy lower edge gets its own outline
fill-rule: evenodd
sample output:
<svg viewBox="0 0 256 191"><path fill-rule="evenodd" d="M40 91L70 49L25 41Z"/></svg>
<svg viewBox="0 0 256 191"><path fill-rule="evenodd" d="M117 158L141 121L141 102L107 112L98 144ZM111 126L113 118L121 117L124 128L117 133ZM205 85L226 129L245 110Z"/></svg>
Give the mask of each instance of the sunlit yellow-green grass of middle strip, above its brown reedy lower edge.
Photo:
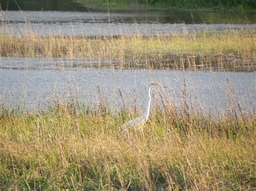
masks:
<svg viewBox="0 0 256 191"><path fill-rule="evenodd" d="M127 56L145 54L233 54L255 56L255 31L202 32L158 37L0 36L2 56Z"/></svg>

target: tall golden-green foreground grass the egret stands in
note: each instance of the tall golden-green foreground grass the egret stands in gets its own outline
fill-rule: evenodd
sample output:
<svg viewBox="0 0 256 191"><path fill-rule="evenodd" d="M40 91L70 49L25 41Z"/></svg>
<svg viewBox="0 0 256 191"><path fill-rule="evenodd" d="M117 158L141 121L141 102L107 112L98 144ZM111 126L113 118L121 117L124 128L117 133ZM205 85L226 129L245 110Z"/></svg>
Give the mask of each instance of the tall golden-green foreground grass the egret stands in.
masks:
<svg viewBox="0 0 256 191"><path fill-rule="evenodd" d="M253 189L255 116L154 110L144 133L120 133L138 114L57 104L0 117L0 188Z"/></svg>

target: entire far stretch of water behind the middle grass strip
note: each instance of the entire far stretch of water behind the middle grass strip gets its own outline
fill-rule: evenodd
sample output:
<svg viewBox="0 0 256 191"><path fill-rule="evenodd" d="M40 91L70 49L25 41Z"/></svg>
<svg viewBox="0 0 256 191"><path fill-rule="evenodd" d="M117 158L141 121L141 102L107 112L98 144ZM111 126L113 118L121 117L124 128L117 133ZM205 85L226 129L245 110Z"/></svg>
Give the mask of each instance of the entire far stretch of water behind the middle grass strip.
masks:
<svg viewBox="0 0 256 191"><path fill-rule="evenodd" d="M192 15L193 17L192 17ZM1 11L0 30L40 36L158 36L256 29L256 13Z"/></svg>

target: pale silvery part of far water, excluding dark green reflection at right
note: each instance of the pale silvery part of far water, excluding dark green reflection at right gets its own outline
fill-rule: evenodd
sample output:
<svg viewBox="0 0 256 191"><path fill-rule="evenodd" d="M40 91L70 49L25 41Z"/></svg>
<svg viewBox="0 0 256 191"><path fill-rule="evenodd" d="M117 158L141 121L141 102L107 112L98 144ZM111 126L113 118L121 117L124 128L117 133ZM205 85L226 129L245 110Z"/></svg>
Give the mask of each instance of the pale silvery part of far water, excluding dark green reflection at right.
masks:
<svg viewBox="0 0 256 191"><path fill-rule="evenodd" d="M0 30L7 34L41 36L158 36L169 34L193 33L198 31L236 29L256 29L256 24L178 24L156 23L144 18L144 13L136 16L130 13L100 12L56 12L56 11L8 11L1 12ZM143 20L147 23L144 23ZM149 22L151 20L151 22Z"/></svg>

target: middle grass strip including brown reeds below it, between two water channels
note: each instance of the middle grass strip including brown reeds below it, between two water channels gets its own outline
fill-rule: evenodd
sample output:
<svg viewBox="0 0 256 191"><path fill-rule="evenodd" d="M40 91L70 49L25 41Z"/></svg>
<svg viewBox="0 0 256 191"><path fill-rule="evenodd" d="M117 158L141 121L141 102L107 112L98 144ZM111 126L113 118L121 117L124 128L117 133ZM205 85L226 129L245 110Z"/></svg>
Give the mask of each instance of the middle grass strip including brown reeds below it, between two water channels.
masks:
<svg viewBox="0 0 256 191"><path fill-rule="evenodd" d="M33 34L0 36L1 56L65 57L110 60L108 66L194 69L195 66L217 68L242 67L254 70L255 31L202 32L158 37L39 37ZM212 56L212 57L211 57ZM213 58L215 57L215 58ZM231 66L230 66L231 65Z"/></svg>

